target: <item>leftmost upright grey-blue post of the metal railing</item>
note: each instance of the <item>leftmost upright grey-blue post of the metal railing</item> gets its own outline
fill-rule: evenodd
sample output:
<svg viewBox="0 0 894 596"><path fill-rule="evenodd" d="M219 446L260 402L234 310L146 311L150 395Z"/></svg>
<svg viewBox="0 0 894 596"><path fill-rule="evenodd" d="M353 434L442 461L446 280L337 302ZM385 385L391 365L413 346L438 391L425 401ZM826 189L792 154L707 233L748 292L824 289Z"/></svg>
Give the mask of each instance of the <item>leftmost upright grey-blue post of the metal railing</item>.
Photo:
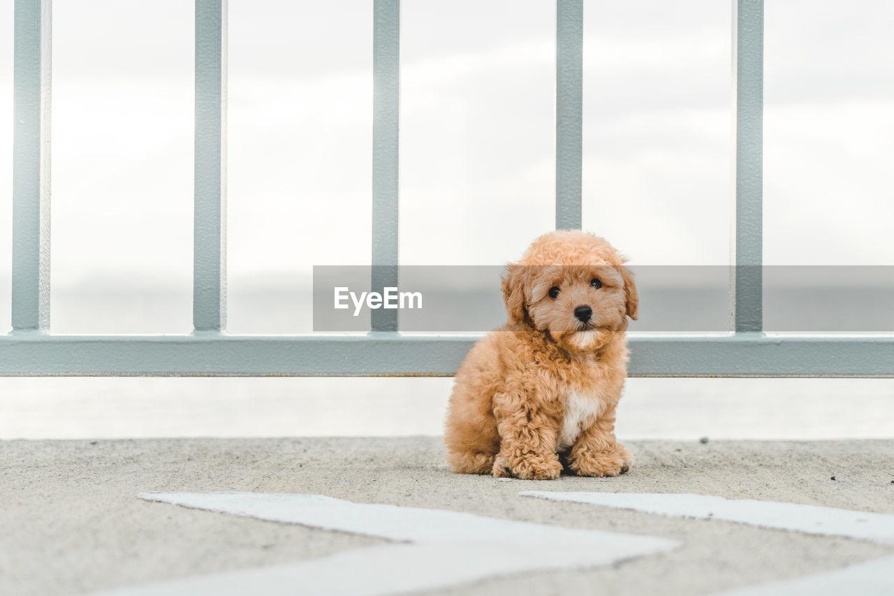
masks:
<svg viewBox="0 0 894 596"><path fill-rule="evenodd" d="M50 327L51 0L15 0L13 331Z"/></svg>

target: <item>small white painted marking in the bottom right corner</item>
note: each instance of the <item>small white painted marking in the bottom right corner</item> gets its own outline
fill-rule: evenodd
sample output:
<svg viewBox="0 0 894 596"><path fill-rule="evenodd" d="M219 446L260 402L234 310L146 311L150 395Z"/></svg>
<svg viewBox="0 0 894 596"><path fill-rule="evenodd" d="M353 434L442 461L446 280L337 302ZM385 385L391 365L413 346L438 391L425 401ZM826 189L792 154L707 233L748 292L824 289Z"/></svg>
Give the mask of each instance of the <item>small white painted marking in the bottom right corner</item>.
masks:
<svg viewBox="0 0 894 596"><path fill-rule="evenodd" d="M890 596L894 594L894 557L843 567L822 574L721 592L715 596Z"/></svg>

